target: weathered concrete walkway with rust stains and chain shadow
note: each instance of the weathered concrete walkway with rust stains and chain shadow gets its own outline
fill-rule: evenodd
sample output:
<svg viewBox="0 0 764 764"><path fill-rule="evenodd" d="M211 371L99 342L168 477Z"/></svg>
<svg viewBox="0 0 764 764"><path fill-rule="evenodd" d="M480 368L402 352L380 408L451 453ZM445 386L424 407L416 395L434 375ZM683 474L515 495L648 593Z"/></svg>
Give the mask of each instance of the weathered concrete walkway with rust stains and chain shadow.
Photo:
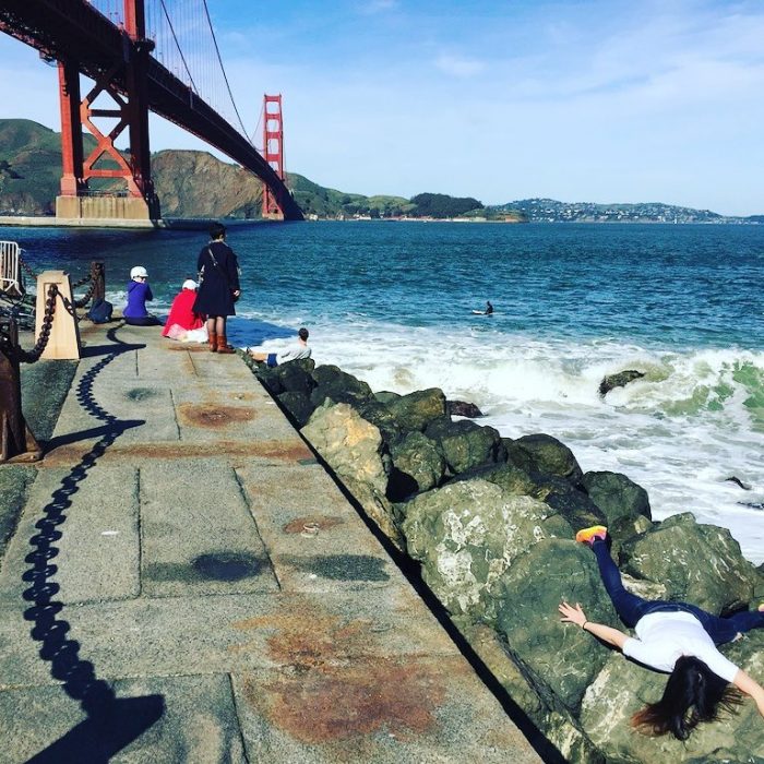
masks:
<svg viewBox="0 0 764 764"><path fill-rule="evenodd" d="M158 335L83 326L0 566L0 762L538 762L241 359Z"/></svg>

